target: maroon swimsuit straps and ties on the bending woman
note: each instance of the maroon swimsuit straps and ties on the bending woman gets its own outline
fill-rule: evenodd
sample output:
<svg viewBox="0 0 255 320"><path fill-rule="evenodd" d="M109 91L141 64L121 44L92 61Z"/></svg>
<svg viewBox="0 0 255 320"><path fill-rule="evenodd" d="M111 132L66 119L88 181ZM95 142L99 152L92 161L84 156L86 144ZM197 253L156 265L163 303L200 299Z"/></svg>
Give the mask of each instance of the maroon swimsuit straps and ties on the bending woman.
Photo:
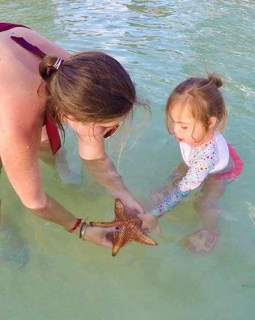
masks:
<svg viewBox="0 0 255 320"><path fill-rule="evenodd" d="M12 29L12 28L16 28L16 27L22 27L22 28L30 29L28 27L22 26L22 24L0 22L0 32L1 31L6 31L6 30L9 30L9 29ZM11 39L14 40L16 43L18 43L19 45L21 45L26 50L32 52L33 54L35 54L35 55L37 55L37 56L39 56L41 58L46 56L45 53L43 53L37 46L32 45L31 43L25 41L24 38L11 36ZM50 118L50 116L48 115L47 112L45 113L45 118L44 118L43 125L46 126L46 131L47 131L50 147L52 148L53 155L55 155L55 153L61 147L61 139L60 139L60 136L59 136L59 132L58 132L57 126L54 124L54 122L52 121L52 119Z"/></svg>

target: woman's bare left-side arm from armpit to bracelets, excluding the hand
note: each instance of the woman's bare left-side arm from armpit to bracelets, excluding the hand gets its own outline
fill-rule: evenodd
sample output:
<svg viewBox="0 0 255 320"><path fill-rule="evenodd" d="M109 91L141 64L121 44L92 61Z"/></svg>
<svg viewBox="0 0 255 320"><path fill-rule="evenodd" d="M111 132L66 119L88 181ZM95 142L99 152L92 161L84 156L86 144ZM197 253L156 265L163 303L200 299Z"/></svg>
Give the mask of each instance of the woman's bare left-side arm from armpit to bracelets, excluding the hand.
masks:
<svg viewBox="0 0 255 320"><path fill-rule="evenodd" d="M3 130L2 126L0 130L0 154L7 176L27 208L38 216L69 229L75 223L75 216L50 198L41 187L39 126L35 123L24 129L22 125L9 124L8 128Z"/></svg>

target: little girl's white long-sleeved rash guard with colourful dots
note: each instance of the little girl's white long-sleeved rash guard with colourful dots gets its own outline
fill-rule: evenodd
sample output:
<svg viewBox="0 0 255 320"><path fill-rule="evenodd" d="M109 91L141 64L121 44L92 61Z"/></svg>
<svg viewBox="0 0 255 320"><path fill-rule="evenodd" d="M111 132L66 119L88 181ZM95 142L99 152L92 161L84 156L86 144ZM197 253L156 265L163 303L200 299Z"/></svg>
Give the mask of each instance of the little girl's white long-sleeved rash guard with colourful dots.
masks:
<svg viewBox="0 0 255 320"><path fill-rule="evenodd" d="M208 143L191 147L181 142L182 156L189 166L186 176L174 188L170 194L150 212L160 217L165 212L176 206L186 195L197 187L207 178L210 173L222 170L228 164L229 153L225 139L219 132L216 132L212 140ZM221 157L219 157L221 156ZM220 161L219 161L220 160ZM219 166L220 163L220 166Z"/></svg>

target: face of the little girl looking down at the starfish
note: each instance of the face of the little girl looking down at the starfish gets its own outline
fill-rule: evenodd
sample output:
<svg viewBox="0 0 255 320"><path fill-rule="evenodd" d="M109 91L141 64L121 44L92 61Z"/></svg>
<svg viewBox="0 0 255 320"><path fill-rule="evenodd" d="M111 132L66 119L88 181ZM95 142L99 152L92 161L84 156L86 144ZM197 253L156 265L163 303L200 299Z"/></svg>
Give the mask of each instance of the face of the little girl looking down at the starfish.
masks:
<svg viewBox="0 0 255 320"><path fill-rule="evenodd" d="M174 103L170 111L170 117L177 141L185 142L191 146L201 144L201 139L205 134L205 126L201 121L195 121L188 106L183 108L180 102Z"/></svg>

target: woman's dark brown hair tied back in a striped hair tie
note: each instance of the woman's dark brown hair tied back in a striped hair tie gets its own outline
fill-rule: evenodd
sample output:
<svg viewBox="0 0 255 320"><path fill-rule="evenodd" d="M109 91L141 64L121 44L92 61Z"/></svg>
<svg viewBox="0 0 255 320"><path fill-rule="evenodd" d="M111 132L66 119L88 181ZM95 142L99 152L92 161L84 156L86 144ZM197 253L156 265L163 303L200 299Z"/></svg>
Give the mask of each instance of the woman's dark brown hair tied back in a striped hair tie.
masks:
<svg viewBox="0 0 255 320"><path fill-rule="evenodd" d="M132 113L136 90L117 60L101 52L82 52L56 69L57 59L43 58L39 73L48 94L47 112L60 129L63 116L98 123Z"/></svg>

